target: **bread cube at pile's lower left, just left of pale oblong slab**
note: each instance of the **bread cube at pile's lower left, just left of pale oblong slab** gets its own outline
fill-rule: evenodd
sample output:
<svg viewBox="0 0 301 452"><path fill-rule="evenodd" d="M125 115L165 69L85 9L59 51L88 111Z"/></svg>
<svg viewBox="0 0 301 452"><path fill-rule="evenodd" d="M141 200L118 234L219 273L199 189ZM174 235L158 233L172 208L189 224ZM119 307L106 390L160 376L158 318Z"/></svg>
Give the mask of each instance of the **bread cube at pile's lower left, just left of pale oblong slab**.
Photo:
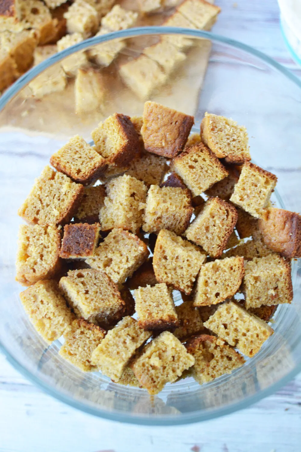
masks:
<svg viewBox="0 0 301 452"><path fill-rule="evenodd" d="M105 330L87 320L74 320L64 334L65 342L59 354L84 372L94 372L97 367L92 364L92 353L105 335Z"/></svg>

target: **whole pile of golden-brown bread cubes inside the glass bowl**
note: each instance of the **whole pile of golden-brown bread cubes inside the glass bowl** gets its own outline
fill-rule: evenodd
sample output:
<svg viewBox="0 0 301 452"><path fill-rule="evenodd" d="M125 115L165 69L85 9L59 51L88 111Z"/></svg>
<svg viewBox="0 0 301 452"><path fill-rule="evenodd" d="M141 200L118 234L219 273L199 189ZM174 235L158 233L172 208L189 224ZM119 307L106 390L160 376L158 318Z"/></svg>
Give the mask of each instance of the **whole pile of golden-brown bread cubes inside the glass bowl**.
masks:
<svg viewBox="0 0 301 452"><path fill-rule="evenodd" d="M301 257L301 216L271 205L277 178L250 162L245 127L193 124L152 101L139 118L115 113L93 145L76 136L53 154L19 209L16 279L37 332L150 394L258 353Z"/></svg>

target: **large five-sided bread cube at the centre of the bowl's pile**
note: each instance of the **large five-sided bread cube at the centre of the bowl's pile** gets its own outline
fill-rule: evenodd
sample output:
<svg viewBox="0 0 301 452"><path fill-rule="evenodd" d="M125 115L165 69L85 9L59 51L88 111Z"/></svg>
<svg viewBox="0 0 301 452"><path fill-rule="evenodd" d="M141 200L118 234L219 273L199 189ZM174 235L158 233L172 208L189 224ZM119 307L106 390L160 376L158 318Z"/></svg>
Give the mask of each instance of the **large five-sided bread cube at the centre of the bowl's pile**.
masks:
<svg viewBox="0 0 301 452"><path fill-rule="evenodd" d="M174 232L162 229L153 253L153 269L158 282L189 295L206 254L198 246Z"/></svg>

